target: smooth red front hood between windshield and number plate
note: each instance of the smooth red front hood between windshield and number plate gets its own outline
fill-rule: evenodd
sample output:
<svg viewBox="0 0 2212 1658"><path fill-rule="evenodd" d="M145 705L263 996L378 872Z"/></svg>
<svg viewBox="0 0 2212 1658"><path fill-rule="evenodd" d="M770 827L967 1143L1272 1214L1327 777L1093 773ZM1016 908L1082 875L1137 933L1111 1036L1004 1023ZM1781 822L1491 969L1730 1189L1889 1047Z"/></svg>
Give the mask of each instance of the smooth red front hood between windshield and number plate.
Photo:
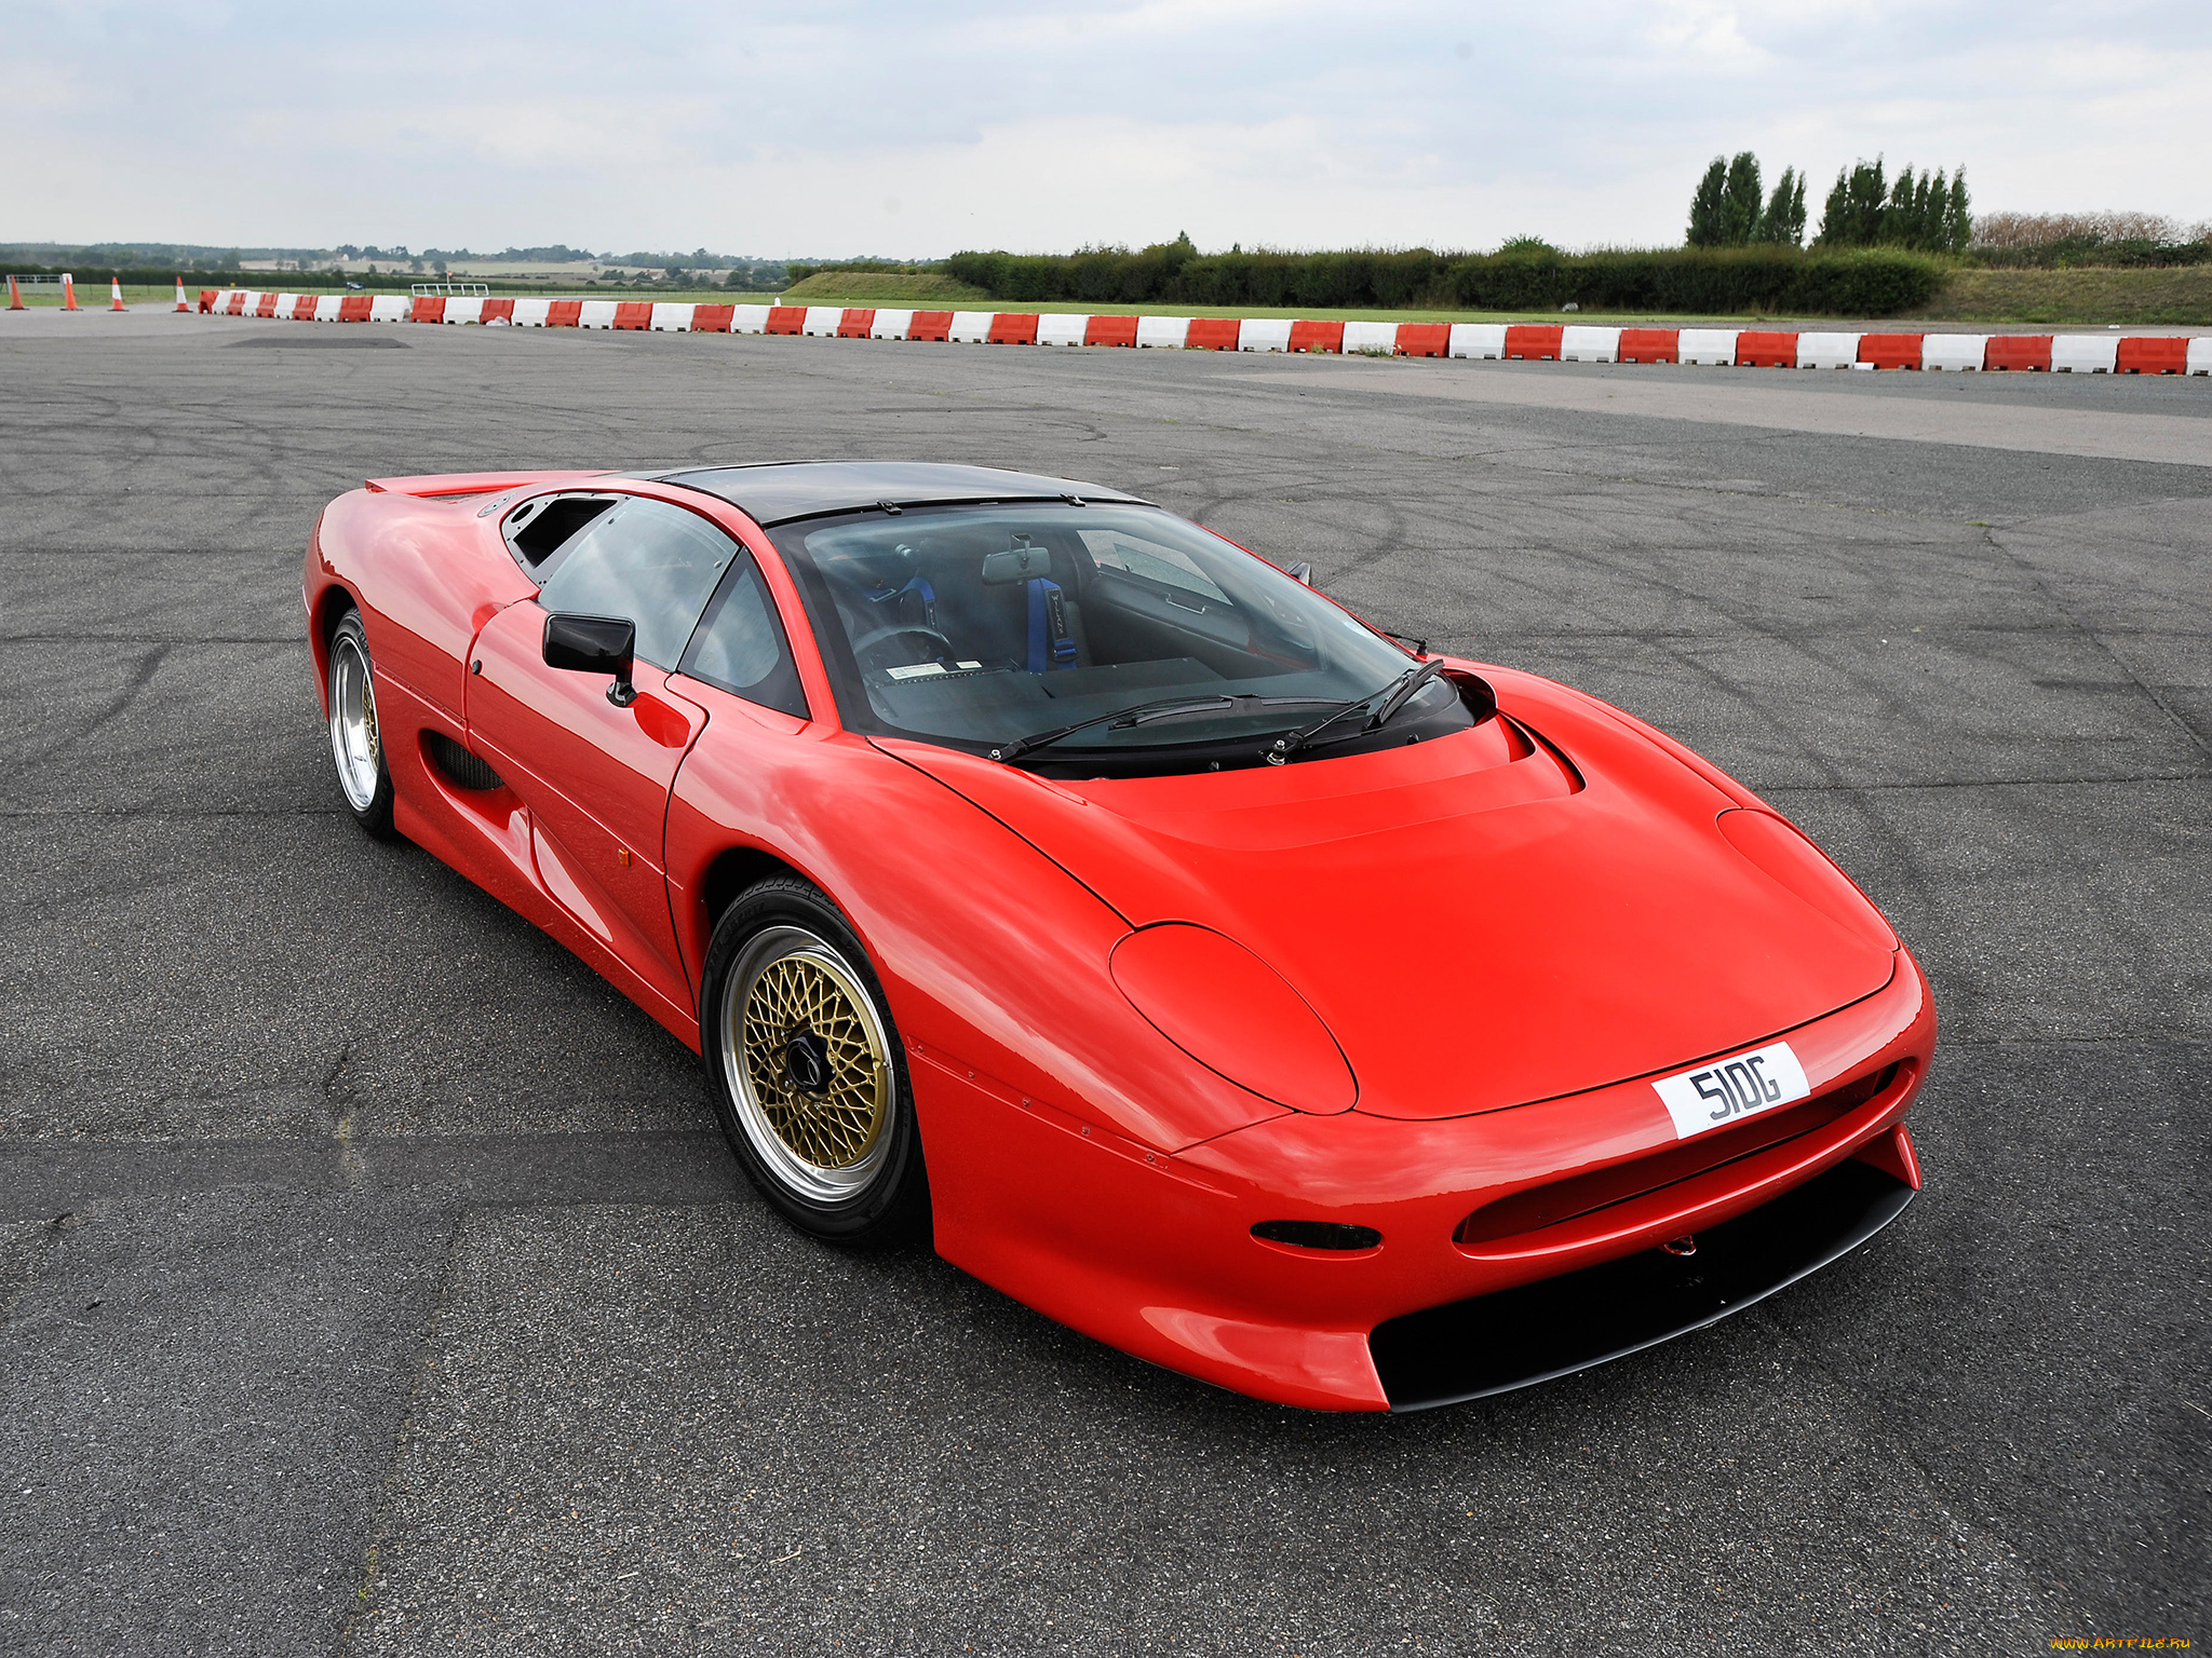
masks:
<svg viewBox="0 0 2212 1658"><path fill-rule="evenodd" d="M1889 982L1896 937L1818 853L1765 825L1803 847L1807 878L1763 844L1739 851L1767 833L1721 831L1750 796L1575 692L1482 672L1509 718L1285 767L1053 783L933 745L878 747L1130 926L1192 922L1272 964L1336 1037L1369 1114L1557 1099Z"/></svg>

